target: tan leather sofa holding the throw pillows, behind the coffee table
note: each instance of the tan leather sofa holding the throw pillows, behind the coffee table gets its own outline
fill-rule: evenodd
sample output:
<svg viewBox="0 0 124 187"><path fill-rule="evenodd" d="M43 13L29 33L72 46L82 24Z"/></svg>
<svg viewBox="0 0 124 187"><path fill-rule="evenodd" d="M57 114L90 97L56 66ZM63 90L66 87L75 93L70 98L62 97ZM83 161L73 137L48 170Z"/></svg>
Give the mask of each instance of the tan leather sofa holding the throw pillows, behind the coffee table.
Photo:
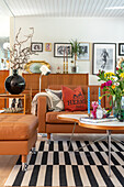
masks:
<svg viewBox="0 0 124 187"><path fill-rule="evenodd" d="M71 89L76 88L77 86L68 86ZM90 101L97 101L99 99L99 86L89 86L90 87ZM60 85L57 86L49 86L48 88L58 90L61 89ZM86 101L88 101L88 86L81 86ZM102 91L102 90L101 90ZM102 99L102 107L105 107L105 98ZM63 120L58 120L58 114L64 113L87 113L87 111L47 111L46 107L46 97L38 98L37 105L37 117L38 117L38 132L40 133L47 133L47 139L50 139L50 133L71 133L74 123L67 122ZM105 132L105 131L104 131ZM79 125L76 127L75 133L103 133L101 130L92 130L81 128Z"/></svg>

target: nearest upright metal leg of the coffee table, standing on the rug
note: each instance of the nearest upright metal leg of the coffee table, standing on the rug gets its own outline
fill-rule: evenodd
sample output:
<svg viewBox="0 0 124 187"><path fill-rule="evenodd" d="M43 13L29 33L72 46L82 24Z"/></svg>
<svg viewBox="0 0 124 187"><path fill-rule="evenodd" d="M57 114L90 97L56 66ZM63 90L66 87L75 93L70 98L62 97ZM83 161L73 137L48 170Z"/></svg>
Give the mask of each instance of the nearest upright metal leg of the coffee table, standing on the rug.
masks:
<svg viewBox="0 0 124 187"><path fill-rule="evenodd" d="M111 177L111 130L108 132L108 144L109 144L109 177Z"/></svg>

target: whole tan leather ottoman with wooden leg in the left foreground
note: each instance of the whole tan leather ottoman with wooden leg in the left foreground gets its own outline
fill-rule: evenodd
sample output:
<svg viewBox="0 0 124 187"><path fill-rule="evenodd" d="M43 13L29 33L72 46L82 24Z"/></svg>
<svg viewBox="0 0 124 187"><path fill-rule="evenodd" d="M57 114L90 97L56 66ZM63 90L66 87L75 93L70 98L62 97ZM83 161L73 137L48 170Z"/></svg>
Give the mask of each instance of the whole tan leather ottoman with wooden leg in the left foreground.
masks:
<svg viewBox="0 0 124 187"><path fill-rule="evenodd" d="M0 155L22 155L25 170L26 156L37 140L38 119L32 114L0 116Z"/></svg>

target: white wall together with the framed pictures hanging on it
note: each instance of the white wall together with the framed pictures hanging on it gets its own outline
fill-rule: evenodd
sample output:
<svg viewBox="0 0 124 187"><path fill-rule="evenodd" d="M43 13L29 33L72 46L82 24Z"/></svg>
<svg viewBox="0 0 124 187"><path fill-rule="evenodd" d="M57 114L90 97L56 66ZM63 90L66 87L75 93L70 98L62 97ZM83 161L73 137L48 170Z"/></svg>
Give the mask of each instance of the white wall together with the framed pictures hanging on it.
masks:
<svg viewBox="0 0 124 187"><path fill-rule="evenodd" d="M89 73L89 84L97 84L98 69L115 72L119 57L124 56L124 19L115 18L15 18L15 33L22 28L29 33L34 28L29 61L44 61L52 73L64 72L64 58L68 57L68 73L71 73L71 40L80 43L83 54L77 56L76 65L81 74ZM14 21L11 19L11 33ZM11 43L13 43L11 34Z"/></svg>

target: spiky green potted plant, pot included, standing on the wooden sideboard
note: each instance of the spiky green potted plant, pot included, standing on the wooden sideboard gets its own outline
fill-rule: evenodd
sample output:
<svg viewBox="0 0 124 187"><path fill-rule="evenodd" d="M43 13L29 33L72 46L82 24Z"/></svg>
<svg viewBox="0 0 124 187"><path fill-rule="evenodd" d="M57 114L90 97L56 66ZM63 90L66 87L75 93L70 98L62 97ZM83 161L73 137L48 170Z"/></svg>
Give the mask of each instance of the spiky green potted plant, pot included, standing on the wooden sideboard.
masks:
<svg viewBox="0 0 124 187"><path fill-rule="evenodd" d="M77 66L76 66L76 61L77 61L77 56L82 54L81 47L80 47L80 43L77 40L71 40L70 41L71 44L71 55L74 57L74 66L71 67L71 72L76 73L77 72Z"/></svg>

